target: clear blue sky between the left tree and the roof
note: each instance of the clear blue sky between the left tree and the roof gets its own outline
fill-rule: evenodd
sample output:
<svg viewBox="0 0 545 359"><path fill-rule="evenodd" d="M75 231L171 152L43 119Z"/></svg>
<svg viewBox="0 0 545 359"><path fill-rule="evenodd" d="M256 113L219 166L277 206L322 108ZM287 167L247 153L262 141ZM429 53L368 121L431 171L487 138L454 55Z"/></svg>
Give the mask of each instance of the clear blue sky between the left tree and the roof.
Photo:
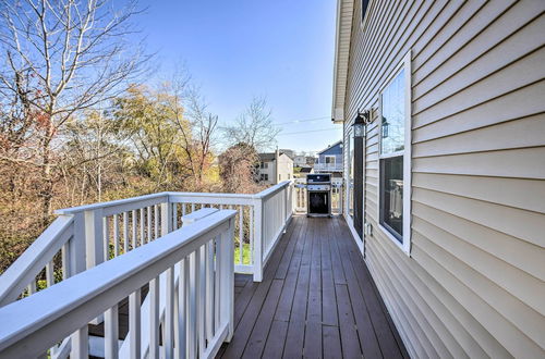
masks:
<svg viewBox="0 0 545 359"><path fill-rule="evenodd" d="M221 123L232 121L253 96L265 96L282 128L280 148L315 151L340 139L341 126L329 119L335 0L141 4L148 10L140 25L160 71L184 62ZM322 120L293 123L316 117Z"/></svg>

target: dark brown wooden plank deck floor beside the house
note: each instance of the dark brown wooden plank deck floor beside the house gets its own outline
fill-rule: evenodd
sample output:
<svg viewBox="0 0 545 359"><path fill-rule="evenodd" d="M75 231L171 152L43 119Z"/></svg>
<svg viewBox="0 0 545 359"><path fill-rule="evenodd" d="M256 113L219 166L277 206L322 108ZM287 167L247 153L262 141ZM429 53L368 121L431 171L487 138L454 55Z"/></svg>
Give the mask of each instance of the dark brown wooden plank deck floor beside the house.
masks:
<svg viewBox="0 0 545 359"><path fill-rule="evenodd" d="M408 358L341 218L295 216L262 283L235 276L222 358Z"/></svg>

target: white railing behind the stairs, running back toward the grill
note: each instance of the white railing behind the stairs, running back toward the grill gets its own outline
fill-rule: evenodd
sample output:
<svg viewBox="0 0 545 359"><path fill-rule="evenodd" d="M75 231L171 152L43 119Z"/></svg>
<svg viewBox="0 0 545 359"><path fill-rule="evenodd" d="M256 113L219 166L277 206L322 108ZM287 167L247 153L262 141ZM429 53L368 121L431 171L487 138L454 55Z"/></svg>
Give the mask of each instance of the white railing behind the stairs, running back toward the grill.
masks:
<svg viewBox="0 0 545 359"><path fill-rule="evenodd" d="M59 218L0 276L0 306L152 243L202 208L237 210L234 270L262 281L292 215L292 190L288 181L255 195L159 193L58 210Z"/></svg>

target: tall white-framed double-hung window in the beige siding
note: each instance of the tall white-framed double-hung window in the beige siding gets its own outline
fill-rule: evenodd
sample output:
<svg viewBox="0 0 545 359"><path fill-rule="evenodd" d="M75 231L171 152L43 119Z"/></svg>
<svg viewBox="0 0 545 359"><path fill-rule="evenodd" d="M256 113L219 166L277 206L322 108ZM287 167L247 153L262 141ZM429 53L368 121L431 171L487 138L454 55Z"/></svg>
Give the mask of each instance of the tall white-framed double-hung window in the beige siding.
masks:
<svg viewBox="0 0 545 359"><path fill-rule="evenodd" d="M379 224L405 252L411 221L411 83L408 53L380 92Z"/></svg>

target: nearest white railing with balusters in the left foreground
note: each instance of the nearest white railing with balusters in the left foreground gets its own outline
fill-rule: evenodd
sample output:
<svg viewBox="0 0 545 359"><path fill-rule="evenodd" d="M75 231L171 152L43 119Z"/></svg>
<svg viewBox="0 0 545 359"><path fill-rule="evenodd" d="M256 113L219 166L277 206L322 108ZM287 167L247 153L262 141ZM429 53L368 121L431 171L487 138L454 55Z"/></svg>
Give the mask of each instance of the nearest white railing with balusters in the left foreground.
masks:
<svg viewBox="0 0 545 359"><path fill-rule="evenodd" d="M46 356L55 348L51 357L87 358L87 324L102 315L106 358L213 358L233 334L235 214L211 213L0 308L0 357ZM146 287L147 307L141 306ZM123 352L118 311L126 297Z"/></svg>

